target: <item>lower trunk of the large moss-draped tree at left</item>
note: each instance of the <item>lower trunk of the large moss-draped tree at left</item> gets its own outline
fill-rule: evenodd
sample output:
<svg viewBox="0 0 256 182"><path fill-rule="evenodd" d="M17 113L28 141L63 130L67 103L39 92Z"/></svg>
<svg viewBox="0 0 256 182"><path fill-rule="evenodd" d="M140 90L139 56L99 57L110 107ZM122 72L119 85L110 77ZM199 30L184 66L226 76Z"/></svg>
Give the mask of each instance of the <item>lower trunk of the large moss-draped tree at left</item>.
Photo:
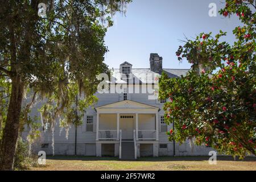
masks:
<svg viewBox="0 0 256 182"><path fill-rule="evenodd" d="M6 125L3 130L0 170L13 169L16 141L19 134L19 117L22 107L23 88L24 84L20 77L13 77Z"/></svg>

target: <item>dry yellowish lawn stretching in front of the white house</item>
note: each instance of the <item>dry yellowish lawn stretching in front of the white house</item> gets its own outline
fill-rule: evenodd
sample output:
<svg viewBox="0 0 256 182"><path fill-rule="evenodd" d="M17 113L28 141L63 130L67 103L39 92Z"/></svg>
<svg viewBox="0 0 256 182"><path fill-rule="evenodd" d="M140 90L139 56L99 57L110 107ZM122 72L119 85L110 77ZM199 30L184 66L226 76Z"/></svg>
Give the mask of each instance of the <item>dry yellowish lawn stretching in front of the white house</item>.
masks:
<svg viewBox="0 0 256 182"><path fill-rule="evenodd" d="M32 167L30 170L47 171L256 171L256 158L234 160L231 157L218 156L217 165L209 165L207 156L139 158L136 161L118 158L96 158L86 156L47 156L46 165Z"/></svg>

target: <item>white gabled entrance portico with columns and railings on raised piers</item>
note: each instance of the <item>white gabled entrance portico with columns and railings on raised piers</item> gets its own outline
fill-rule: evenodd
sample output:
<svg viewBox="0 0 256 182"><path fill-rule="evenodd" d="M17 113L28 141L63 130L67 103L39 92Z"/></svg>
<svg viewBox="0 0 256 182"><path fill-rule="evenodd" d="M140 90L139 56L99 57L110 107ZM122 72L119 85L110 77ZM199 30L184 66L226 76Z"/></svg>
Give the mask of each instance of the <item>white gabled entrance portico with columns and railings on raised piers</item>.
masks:
<svg viewBox="0 0 256 182"><path fill-rule="evenodd" d="M158 107L126 100L97 107L96 111L97 156L102 155L103 143L114 143L114 154L121 158L122 143L133 142L135 159L139 155L139 143L158 143ZM157 153L155 151L154 156Z"/></svg>

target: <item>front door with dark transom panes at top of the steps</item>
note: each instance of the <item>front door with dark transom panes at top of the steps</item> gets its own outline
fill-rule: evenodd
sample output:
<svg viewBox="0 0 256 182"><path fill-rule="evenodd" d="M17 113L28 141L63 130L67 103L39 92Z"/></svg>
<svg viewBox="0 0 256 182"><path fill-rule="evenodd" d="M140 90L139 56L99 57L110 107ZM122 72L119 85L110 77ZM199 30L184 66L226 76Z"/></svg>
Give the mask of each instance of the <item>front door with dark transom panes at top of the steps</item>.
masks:
<svg viewBox="0 0 256 182"><path fill-rule="evenodd" d="M133 139L133 130L134 130L133 115L121 115L120 129L122 130L122 139L123 140L132 140Z"/></svg>

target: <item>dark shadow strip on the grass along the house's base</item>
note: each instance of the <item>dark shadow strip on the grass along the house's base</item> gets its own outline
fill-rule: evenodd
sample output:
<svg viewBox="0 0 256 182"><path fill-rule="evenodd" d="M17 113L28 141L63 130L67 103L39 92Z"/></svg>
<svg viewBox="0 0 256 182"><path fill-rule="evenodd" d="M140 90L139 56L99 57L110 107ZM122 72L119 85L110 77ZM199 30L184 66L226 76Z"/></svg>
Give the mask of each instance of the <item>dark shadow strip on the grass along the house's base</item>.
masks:
<svg viewBox="0 0 256 182"><path fill-rule="evenodd" d="M210 156L161 156L158 158L153 157L143 157L138 158L138 160L125 160L125 159L118 159L117 157L95 157L95 156L51 156L48 155L46 159L51 160L82 160L82 161L92 161L92 160L110 160L110 161L139 161L139 162L168 162L168 161L204 161L209 160ZM256 162L255 157L246 157L245 159L238 159L236 160L232 156L217 156L217 160L219 161L245 161L245 162Z"/></svg>

